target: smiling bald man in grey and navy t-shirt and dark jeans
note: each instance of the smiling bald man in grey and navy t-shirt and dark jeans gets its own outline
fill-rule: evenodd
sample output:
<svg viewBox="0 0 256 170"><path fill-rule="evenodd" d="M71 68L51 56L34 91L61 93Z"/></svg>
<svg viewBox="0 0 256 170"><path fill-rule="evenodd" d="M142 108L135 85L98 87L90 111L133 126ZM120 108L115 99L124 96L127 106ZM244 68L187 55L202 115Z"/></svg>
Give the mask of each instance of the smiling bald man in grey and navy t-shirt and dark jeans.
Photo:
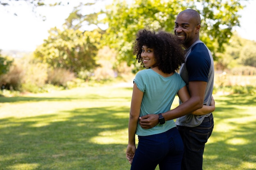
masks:
<svg viewBox="0 0 256 170"><path fill-rule="evenodd" d="M166 120L177 118L176 125L184 143L182 170L202 170L204 145L213 130L213 115L192 115L192 111L211 102L214 66L211 52L199 39L201 28L197 11L186 9L177 15L175 35L186 49L185 63L180 75L186 82L191 98L180 102L180 106L162 113ZM139 118L142 128L148 129L158 124L158 114Z"/></svg>

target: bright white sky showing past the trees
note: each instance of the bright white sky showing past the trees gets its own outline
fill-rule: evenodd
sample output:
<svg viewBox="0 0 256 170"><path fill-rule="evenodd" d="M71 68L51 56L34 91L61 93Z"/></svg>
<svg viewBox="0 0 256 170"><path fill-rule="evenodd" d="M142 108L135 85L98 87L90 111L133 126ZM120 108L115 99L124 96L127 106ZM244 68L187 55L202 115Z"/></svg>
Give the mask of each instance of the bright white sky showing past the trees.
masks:
<svg viewBox="0 0 256 170"><path fill-rule="evenodd" d="M89 0L90 1L90 0ZM3 7L0 6L0 49L3 51L34 51L36 47L43 44L47 39L49 29L62 28L65 18L72 12L73 7L77 6L81 0L62 0L64 6L38 7L36 13L32 8L22 3L19 6ZM21 3L21 2L20 2ZM98 4L90 7L86 12L98 11L105 4ZM246 2L247 7L240 11L240 27L236 27L238 35L248 40L256 41L256 0ZM17 15L14 15L16 13ZM40 15L45 15L46 20Z"/></svg>

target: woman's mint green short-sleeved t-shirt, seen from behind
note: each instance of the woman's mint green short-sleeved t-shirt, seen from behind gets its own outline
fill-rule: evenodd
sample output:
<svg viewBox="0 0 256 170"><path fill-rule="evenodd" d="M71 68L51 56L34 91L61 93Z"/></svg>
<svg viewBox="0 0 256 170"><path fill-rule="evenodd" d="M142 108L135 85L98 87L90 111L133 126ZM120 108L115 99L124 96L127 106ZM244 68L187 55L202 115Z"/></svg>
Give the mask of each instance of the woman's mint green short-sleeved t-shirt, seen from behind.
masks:
<svg viewBox="0 0 256 170"><path fill-rule="evenodd" d="M177 92L184 86L185 82L178 73L170 77L163 77L152 69L139 71L134 79L137 87L144 93L139 116L148 114L164 113L171 109L171 104ZM173 120L166 121L165 124L158 124L150 129L143 129L137 125L136 134L139 136L155 135L175 127Z"/></svg>

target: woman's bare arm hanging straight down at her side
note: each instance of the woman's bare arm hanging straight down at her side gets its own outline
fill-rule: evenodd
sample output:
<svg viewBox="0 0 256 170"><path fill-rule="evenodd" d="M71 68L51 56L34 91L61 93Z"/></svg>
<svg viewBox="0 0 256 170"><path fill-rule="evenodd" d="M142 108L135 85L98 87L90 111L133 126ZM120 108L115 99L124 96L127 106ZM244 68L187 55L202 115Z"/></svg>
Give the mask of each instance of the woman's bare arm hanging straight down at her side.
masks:
<svg viewBox="0 0 256 170"><path fill-rule="evenodd" d="M140 107L143 97L143 92L139 90L137 85L133 84L132 91L132 101L130 108L130 118L128 124L128 146L126 149L126 158L132 164L132 159L135 154L136 146L135 146L135 133L137 130L137 124L139 120Z"/></svg>

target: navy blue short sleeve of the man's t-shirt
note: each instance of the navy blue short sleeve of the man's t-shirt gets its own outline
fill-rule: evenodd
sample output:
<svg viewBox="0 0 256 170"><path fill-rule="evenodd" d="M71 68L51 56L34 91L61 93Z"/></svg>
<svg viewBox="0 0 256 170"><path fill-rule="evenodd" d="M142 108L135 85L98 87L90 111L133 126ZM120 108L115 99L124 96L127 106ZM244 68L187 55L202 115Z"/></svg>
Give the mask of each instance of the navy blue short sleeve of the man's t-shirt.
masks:
<svg viewBox="0 0 256 170"><path fill-rule="evenodd" d="M203 43L198 43L192 49L186 61L190 81L208 82L211 58Z"/></svg>

